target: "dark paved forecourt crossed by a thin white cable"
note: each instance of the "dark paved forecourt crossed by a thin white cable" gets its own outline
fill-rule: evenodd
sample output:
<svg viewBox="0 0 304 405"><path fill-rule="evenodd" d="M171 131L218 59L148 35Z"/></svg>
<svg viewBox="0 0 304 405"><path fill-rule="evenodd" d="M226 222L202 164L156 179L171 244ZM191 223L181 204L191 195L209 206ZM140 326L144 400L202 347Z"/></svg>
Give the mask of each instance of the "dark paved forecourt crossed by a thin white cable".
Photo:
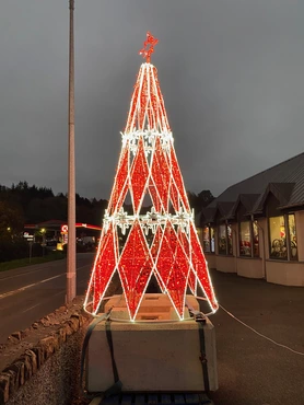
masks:
<svg viewBox="0 0 304 405"><path fill-rule="evenodd" d="M303 268L304 270L304 268ZM304 354L304 288L211 271L219 303L258 333ZM304 356L245 327L223 309L215 326L215 405L304 405Z"/></svg>

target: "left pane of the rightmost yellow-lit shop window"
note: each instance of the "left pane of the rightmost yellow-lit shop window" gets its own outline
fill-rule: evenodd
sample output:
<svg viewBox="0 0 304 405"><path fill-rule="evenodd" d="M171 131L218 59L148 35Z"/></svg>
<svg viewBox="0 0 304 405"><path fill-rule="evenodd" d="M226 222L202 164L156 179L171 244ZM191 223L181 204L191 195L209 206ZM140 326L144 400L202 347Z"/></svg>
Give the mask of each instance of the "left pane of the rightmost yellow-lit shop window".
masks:
<svg viewBox="0 0 304 405"><path fill-rule="evenodd" d="M270 257L288 259L285 218L283 216L269 218Z"/></svg>

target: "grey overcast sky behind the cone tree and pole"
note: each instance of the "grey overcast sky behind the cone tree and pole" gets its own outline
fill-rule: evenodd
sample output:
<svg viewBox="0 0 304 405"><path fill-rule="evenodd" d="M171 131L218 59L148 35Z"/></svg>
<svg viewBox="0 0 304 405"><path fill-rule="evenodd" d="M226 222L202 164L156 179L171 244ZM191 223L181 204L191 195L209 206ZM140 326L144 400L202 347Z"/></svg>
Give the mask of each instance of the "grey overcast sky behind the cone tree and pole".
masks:
<svg viewBox="0 0 304 405"><path fill-rule="evenodd" d="M0 184L67 192L68 0L0 2ZM110 194L147 31L186 188L303 152L304 1L75 0L77 192Z"/></svg>

